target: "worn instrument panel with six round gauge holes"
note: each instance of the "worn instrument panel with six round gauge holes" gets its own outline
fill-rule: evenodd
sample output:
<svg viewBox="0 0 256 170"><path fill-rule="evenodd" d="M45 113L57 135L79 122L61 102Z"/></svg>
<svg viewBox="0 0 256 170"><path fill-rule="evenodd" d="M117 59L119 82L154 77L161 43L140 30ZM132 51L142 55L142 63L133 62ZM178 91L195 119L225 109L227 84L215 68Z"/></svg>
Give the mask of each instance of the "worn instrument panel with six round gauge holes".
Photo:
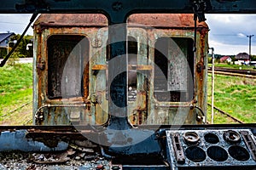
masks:
<svg viewBox="0 0 256 170"><path fill-rule="evenodd" d="M167 130L166 139L173 169L255 166L256 144L250 129Z"/></svg>

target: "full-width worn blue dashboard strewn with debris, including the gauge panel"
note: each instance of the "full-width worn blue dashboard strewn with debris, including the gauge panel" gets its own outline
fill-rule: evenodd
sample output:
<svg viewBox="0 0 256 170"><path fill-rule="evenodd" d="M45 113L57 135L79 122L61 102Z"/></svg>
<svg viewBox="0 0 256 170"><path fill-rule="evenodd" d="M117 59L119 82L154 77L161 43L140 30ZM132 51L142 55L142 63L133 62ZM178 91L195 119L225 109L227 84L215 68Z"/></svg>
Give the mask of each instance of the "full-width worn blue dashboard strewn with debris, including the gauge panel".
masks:
<svg viewBox="0 0 256 170"><path fill-rule="evenodd" d="M143 128L138 131L149 127ZM1 127L0 166L97 170L256 168L253 125L160 127L148 139L119 148L121 152L115 154L111 151L113 145L108 150L104 146L109 138L104 131L101 127L80 127L80 131L70 126L26 130L15 127L11 131ZM95 143L85 138L89 135L99 140Z"/></svg>

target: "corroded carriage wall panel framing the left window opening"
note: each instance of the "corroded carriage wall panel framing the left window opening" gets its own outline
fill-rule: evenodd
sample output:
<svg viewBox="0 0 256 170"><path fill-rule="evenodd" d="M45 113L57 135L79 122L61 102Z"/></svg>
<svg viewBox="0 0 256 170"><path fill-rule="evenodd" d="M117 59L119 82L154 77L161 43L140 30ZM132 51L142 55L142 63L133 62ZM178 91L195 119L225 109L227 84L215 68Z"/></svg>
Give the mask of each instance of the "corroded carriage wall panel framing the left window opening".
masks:
<svg viewBox="0 0 256 170"><path fill-rule="evenodd" d="M36 26L38 28L38 26ZM70 76L74 75L75 77L71 77L71 79L68 78L68 80L72 80L70 83L69 87L73 87L73 82L76 81L82 81L84 83L81 84L81 86L79 85L79 82L77 82L76 84L80 87L80 92L79 92L79 96L75 96L75 95L70 95L68 98L59 98L59 96L55 96L55 98L49 98L49 90L51 89L51 87L53 86L49 86L49 82L55 83L55 86L59 84L59 86L61 86L60 83L56 83L56 81L53 81L53 79L51 79L51 77L49 76L50 70L54 69L55 67L52 66L53 64L53 60L50 58L53 55L55 56L59 56L56 59L61 59L61 56L63 56L61 54L61 50L63 52L67 52L70 53L70 50L66 50L65 48L61 48L61 50L57 50L57 51L53 51L52 54L49 53L48 49L49 48L45 48L47 47L47 45L49 45L47 43L48 37L51 35L58 35L58 36L63 36L63 35L69 35L70 37L85 37L85 39L88 39L88 41L92 40L95 37L95 32L96 29L90 29L90 28L48 28L48 29L37 29L35 27L35 30L38 31L37 35L39 35L38 37L40 37L40 39L42 39L40 42L38 42L38 48L40 49L40 54L37 55L37 60L38 61L42 61L44 60L45 63L45 68L41 68L37 66L37 72L38 74L36 75L36 79L34 80L36 83L34 84L35 87L38 87L38 91L35 92L34 96L37 96L38 98L35 100L38 100L38 104L34 105L34 115L35 115L35 123L38 125L57 125L57 124L95 124L96 123L96 118L95 118L95 105L90 101L89 98L89 81L91 79L91 77L89 77L89 74L92 72L90 71L91 69L89 68L91 66L90 62L89 62L89 56L87 55L87 59L86 57L83 57L83 61L80 59L75 59L72 61L72 59L70 60L71 62L69 62L72 65L77 64L77 65L81 65L82 63L84 63L84 66L81 65L81 71L79 71L79 74L76 74L75 72L73 72L73 69L69 69L67 70L67 74L66 76L68 76L69 74L71 74ZM65 39L65 38L64 38ZM60 41L64 40L63 38L60 39ZM84 38L83 38L84 39ZM53 43L51 45L51 48L54 48L55 50L57 48L55 48L55 45L61 45L61 43ZM76 45L76 44L74 44ZM80 43L79 45L83 45L83 43ZM65 46L63 46L65 47ZM82 48L85 47L81 47ZM83 50L81 52L83 52L82 54L86 55L87 54L92 54L94 53L92 50L92 46L90 46L90 52L83 52ZM65 51L66 50L66 51ZM57 54L57 55L56 55ZM74 53L73 53L74 54ZM67 59L66 59L67 60ZM64 63L65 63L65 59L64 59ZM38 62L39 64L39 62ZM65 63L66 64L66 63ZM67 66L67 65L65 65ZM75 68L75 67L71 67L71 68ZM62 69L63 70L63 69ZM53 71L52 71L53 72ZM61 73L61 72L60 72ZM64 71L65 73L65 71ZM72 74L73 73L73 74ZM56 76L56 79L61 80L60 74L58 73L58 71L53 72L53 74ZM83 75L82 75L83 74ZM75 79L74 79L75 78ZM64 83L65 82L65 77L64 79ZM67 80L67 81L68 81ZM81 89L82 88L82 89ZM58 88L59 92L61 93L63 89ZM70 90L68 90L68 93L71 93L73 90L73 92L76 92L76 89L78 88L70 88ZM63 96L62 96L63 97ZM45 105L45 106L44 106ZM83 105L82 107L79 105ZM73 106L73 107L71 107ZM40 107L44 107L42 109L40 109ZM49 109L48 109L49 108ZM43 112L43 113L42 113ZM43 118L44 120L40 120L40 118ZM107 121L108 118L105 118L105 122Z"/></svg>

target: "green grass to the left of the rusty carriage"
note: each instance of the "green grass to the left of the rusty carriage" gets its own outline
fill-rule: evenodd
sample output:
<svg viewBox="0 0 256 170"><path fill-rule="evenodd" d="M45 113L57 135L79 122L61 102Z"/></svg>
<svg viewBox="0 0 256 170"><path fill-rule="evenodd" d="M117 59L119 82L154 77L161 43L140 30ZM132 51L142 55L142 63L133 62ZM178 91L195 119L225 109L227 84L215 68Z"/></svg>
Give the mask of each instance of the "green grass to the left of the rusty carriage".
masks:
<svg viewBox="0 0 256 170"><path fill-rule="evenodd" d="M1 67L0 122L6 122L9 119L10 112L28 102L32 112L32 64L5 65ZM14 112L19 112L19 110ZM19 116L18 114L10 119L8 124L20 123L23 121L22 118L22 115Z"/></svg>

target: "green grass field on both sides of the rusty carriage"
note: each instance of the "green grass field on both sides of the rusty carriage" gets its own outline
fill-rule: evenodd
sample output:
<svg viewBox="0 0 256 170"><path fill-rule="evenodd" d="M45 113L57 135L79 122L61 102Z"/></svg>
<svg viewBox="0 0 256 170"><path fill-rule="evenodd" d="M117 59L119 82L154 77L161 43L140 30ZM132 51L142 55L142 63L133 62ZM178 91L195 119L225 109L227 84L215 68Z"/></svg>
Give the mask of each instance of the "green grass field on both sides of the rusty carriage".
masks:
<svg viewBox="0 0 256 170"><path fill-rule="evenodd" d="M208 103L211 103L211 74ZM256 79L215 75L214 105L243 122L256 122ZM0 124L32 124L32 64L0 67ZM211 120L211 108L207 111ZM234 123L215 113L214 123Z"/></svg>

